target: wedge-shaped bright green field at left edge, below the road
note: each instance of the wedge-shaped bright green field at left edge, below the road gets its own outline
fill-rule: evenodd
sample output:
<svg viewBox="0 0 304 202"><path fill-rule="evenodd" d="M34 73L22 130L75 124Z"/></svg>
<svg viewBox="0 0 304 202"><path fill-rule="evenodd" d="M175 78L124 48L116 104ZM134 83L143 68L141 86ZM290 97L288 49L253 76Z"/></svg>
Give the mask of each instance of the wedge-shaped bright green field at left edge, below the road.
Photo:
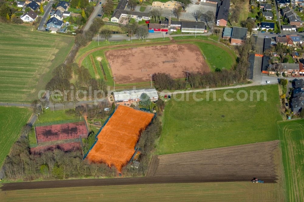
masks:
<svg viewBox="0 0 304 202"><path fill-rule="evenodd" d="M28 108L0 106L0 167L31 113Z"/></svg>

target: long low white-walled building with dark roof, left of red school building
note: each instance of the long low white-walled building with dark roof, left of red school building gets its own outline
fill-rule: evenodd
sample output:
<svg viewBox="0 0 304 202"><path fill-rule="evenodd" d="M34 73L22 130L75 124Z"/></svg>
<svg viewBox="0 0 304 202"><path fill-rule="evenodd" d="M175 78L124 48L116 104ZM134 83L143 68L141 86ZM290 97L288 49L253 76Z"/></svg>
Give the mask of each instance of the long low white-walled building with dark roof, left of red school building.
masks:
<svg viewBox="0 0 304 202"><path fill-rule="evenodd" d="M120 24L124 24L124 21L128 21L129 18L135 18L137 20L150 20L151 19L150 15L148 13L116 9L116 10L114 10L113 15L111 16L111 22L117 22Z"/></svg>

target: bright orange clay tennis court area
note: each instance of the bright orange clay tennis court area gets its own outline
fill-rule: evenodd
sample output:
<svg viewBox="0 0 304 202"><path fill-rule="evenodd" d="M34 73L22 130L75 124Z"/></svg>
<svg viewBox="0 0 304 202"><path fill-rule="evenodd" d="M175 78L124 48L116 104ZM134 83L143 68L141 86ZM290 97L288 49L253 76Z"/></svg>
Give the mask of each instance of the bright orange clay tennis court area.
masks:
<svg viewBox="0 0 304 202"><path fill-rule="evenodd" d="M154 114L119 105L98 134L88 160L114 165L119 171L132 158L134 147Z"/></svg>

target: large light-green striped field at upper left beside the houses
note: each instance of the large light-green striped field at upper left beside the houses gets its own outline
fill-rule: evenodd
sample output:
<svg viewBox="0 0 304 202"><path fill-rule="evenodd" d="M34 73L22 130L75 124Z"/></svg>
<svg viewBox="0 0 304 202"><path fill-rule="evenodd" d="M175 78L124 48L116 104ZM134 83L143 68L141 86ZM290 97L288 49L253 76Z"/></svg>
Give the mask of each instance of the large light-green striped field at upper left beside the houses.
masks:
<svg viewBox="0 0 304 202"><path fill-rule="evenodd" d="M29 103L64 62L74 37L0 23L0 102Z"/></svg>

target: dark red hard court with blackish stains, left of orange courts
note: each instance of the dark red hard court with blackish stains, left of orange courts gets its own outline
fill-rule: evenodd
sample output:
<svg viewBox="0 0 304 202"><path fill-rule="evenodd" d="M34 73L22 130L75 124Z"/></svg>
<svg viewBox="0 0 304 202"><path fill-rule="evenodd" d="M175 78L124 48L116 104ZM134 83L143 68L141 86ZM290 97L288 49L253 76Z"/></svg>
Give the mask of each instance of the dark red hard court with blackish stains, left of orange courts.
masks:
<svg viewBox="0 0 304 202"><path fill-rule="evenodd" d="M50 126L36 126L35 130L38 143L88 136L88 129L84 121Z"/></svg>

